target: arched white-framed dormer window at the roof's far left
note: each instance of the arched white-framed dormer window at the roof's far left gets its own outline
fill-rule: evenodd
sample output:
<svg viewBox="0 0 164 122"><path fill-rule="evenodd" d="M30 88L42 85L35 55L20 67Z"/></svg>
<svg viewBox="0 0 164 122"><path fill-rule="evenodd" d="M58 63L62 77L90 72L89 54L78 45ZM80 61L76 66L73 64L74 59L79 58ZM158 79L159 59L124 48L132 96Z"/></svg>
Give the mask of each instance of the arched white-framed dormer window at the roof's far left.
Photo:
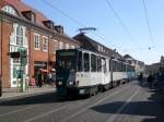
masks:
<svg viewBox="0 0 164 122"><path fill-rule="evenodd" d="M17 16L16 10L13 7L11 7L11 5L4 5L1 10L7 12L7 13L10 13L12 15L16 15Z"/></svg>

